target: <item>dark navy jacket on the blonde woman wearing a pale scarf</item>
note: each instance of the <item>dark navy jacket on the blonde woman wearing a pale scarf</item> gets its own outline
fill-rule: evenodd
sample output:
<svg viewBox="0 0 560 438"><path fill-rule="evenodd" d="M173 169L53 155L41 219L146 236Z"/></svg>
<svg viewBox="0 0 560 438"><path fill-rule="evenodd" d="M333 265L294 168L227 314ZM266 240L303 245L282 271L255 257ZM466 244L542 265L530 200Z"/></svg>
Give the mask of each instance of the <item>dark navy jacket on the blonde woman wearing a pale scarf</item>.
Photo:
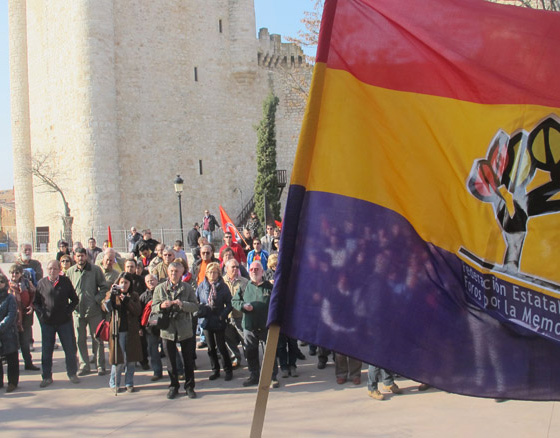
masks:
<svg viewBox="0 0 560 438"><path fill-rule="evenodd" d="M200 303L198 308L198 318L200 326L205 330L225 330L228 322L228 315L232 310L231 292L224 280L220 278L216 282L216 299L213 307L208 305L210 295L210 283L205 278L196 289L196 296Z"/></svg>

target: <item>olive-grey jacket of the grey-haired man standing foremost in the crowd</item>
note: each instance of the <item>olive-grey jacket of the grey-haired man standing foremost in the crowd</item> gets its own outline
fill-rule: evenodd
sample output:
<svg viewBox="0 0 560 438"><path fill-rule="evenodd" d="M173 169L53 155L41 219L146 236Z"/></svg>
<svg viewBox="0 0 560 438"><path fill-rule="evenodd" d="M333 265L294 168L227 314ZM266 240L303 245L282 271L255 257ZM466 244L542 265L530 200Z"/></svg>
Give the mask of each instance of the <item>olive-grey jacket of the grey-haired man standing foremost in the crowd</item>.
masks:
<svg viewBox="0 0 560 438"><path fill-rule="evenodd" d="M177 290L172 289L171 282L158 284L154 289L152 301L152 312L159 313L162 310L161 303L176 299L181 300L180 309L176 309L176 314L169 323L166 330L160 330L160 337L170 341L182 341L194 335L192 330L192 314L198 310L198 302L194 289L188 283L180 282Z"/></svg>

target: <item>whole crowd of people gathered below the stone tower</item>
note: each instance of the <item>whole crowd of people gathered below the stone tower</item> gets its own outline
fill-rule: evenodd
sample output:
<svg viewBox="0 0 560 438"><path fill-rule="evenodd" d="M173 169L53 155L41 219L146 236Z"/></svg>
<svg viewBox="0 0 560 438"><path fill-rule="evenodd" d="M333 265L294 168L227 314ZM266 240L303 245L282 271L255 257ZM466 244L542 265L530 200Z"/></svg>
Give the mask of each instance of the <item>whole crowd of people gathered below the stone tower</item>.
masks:
<svg viewBox="0 0 560 438"><path fill-rule="evenodd" d="M87 247L60 241L56 259L46 264L45 276L41 263L32 258L32 246L22 244L9 278L0 274L0 356L7 364L6 391L18 385L18 350L25 370L41 371L41 388L53 383L53 351L59 348L56 335L68 378L75 384L81 376L107 373L108 342L109 387L115 393L135 391L137 364L152 370L152 381L163 379L164 359L170 381L167 398L178 395L180 381L187 397L195 398L197 348L207 348L211 381L219 379L221 371L225 381L232 380L234 370L245 360L249 377L243 386L257 385L259 345L267 337L280 229L266 225L261 231L253 213L241 236L226 230L223 245L216 249L212 238L218 227L206 210L201 225L195 223L188 232L190 257L183 242L169 246L154 240L149 229L138 233L135 227L124 255L108 241L103 248L97 247L94 237ZM34 314L41 328L41 368L31 355ZM318 355L317 367L323 369L331 352L309 345L309 354ZM362 363L333 355L336 382L360 384ZM298 377L297 360L304 358L298 341L281 334L272 387L280 385L279 372L283 378ZM0 365L0 385L3 382ZM381 400L378 382L389 392L401 393L390 371L370 366L368 393Z"/></svg>

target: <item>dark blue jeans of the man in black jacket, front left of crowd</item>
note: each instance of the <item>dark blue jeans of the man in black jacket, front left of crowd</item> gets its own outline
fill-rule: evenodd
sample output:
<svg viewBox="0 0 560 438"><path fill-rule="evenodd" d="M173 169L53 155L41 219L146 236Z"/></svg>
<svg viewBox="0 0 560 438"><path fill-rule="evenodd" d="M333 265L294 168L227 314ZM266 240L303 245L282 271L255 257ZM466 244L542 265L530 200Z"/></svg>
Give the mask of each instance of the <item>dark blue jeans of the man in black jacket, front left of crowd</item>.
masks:
<svg viewBox="0 0 560 438"><path fill-rule="evenodd" d="M78 372L76 335L74 334L72 320L58 326L41 323L41 339L43 340L41 368L43 379L52 379L52 354L57 333L64 349L66 374L68 374L68 377L71 377L75 376Z"/></svg>

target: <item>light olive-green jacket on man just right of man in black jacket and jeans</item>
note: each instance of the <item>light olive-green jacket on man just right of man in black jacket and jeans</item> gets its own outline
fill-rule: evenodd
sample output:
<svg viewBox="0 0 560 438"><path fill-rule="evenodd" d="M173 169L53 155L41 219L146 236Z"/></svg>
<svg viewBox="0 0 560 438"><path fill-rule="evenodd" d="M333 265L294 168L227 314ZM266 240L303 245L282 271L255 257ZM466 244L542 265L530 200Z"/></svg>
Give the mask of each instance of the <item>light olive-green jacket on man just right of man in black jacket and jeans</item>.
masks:
<svg viewBox="0 0 560 438"><path fill-rule="evenodd" d="M72 282L80 299L74 312L81 318L101 315L101 303L109 290L101 268L89 262L83 270L78 269L78 265L74 265L66 271L66 276Z"/></svg>

